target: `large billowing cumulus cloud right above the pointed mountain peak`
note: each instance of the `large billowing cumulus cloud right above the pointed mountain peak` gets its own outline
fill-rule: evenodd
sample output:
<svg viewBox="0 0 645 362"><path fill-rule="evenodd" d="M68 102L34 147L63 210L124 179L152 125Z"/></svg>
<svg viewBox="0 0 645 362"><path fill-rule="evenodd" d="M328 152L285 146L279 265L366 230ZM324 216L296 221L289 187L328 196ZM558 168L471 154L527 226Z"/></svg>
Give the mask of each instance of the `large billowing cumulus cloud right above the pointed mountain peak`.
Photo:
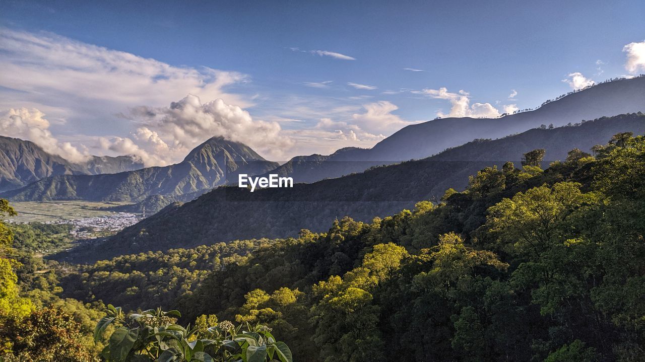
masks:
<svg viewBox="0 0 645 362"><path fill-rule="evenodd" d="M142 125L134 135L140 149L132 147L130 138L117 138L108 148L128 149L151 163L181 158L214 136L243 142L268 157L280 157L293 146L293 141L281 133L278 122L254 120L248 111L222 99L202 104L196 95L188 95L169 107L132 108L125 117Z"/></svg>

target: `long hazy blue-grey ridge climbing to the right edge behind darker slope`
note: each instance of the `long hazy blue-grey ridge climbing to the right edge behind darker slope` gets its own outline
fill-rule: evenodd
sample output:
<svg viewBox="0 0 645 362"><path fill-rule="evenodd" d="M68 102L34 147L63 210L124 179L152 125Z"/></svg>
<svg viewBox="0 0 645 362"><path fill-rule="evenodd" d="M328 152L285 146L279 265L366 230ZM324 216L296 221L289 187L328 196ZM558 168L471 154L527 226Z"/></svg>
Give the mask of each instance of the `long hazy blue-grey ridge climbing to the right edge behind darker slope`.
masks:
<svg viewBox="0 0 645 362"><path fill-rule="evenodd" d="M571 92L540 108L497 119L435 119L400 129L371 149L340 149L332 155L294 157L271 173L295 182L315 182L364 171L371 166L425 158L476 138L500 138L544 124L565 126L581 120L645 111L645 77L604 82Z"/></svg>

